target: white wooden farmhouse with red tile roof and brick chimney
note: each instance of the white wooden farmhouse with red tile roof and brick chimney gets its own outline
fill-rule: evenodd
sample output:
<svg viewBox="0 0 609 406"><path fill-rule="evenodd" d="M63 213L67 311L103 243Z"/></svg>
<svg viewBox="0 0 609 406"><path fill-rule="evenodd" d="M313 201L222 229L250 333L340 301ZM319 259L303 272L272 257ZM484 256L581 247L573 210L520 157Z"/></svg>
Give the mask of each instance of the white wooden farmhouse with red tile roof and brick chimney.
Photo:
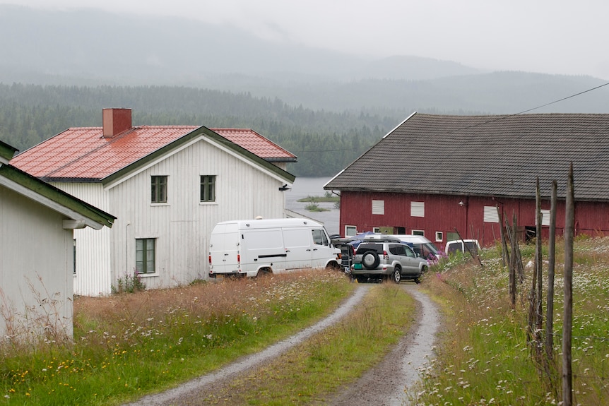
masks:
<svg viewBox="0 0 609 406"><path fill-rule="evenodd" d="M217 222L285 217L283 191L295 177L272 161L296 157L254 131L246 149L227 138L237 130L225 137L204 126L132 126L131 109L104 109L102 121L11 162L117 215L112 229L77 230L76 294L110 294L134 275L151 289L204 279ZM276 156L256 153L266 148Z"/></svg>

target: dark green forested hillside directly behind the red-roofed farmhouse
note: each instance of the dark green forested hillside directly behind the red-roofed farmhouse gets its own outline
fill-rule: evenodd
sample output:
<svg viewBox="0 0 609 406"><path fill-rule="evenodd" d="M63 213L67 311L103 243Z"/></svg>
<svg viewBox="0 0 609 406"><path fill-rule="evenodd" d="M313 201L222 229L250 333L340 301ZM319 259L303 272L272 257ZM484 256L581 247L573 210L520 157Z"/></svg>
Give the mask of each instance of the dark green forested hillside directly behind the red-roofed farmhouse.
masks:
<svg viewBox="0 0 609 406"><path fill-rule="evenodd" d="M254 129L297 155L288 171L303 177L340 172L399 124L397 117L313 111L196 88L0 84L0 140L23 151L69 127L101 126L107 107L133 109L134 125Z"/></svg>

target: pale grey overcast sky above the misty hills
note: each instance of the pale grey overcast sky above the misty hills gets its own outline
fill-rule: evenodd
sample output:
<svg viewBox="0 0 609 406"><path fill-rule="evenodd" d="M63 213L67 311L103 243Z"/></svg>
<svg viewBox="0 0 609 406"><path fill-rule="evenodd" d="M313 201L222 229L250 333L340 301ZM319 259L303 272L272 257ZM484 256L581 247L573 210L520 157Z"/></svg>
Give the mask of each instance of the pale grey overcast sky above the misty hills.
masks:
<svg viewBox="0 0 609 406"><path fill-rule="evenodd" d="M275 41L364 56L609 80L606 0L0 0L230 23Z"/></svg>

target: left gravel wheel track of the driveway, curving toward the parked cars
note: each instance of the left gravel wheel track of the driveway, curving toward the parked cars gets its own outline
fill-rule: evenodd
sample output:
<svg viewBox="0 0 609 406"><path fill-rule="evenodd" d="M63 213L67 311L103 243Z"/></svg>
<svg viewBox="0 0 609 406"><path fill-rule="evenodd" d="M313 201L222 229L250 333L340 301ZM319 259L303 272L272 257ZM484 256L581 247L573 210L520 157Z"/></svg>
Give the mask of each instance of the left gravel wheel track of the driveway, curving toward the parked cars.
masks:
<svg viewBox="0 0 609 406"><path fill-rule="evenodd" d="M317 334L321 330L324 330L325 328L328 328L334 323L340 321L341 318L345 317L358 303L360 303L360 301L362 301L368 288L369 287L367 285L358 286L353 295L345 300L343 304L338 306L338 309L336 309L330 316L314 324L314 326L305 328L305 330L290 336L290 338L277 342L261 352L238 359L236 362L228 364L222 369L212 372L211 374L194 378L187 383L183 383L177 388L166 390L162 393L146 395L140 400L127 405L189 405L193 400L199 399L197 393L200 390L204 390L214 383L221 383L223 381L234 379L237 374L242 374L244 371L248 371L249 369L268 362L268 360L273 359L274 357L278 357L280 354L283 354L283 352L307 340L307 338L310 338L312 335Z"/></svg>

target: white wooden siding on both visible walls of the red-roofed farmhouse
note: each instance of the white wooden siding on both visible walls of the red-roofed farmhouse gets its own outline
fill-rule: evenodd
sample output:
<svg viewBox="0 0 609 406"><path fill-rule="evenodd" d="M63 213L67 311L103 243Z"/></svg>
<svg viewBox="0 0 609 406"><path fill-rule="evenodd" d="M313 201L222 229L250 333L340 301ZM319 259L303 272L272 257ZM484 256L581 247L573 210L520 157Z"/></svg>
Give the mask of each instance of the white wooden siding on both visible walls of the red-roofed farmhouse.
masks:
<svg viewBox="0 0 609 406"><path fill-rule="evenodd" d="M150 203L150 177L167 176L167 204ZM214 203L201 203L201 175L215 175ZM101 184L54 186L117 217L112 229L75 230L75 293L110 294L117 280L135 272L135 240L156 239L151 289L208 277L208 238L220 221L284 217L283 182L266 169L203 141L192 143L142 171Z"/></svg>

